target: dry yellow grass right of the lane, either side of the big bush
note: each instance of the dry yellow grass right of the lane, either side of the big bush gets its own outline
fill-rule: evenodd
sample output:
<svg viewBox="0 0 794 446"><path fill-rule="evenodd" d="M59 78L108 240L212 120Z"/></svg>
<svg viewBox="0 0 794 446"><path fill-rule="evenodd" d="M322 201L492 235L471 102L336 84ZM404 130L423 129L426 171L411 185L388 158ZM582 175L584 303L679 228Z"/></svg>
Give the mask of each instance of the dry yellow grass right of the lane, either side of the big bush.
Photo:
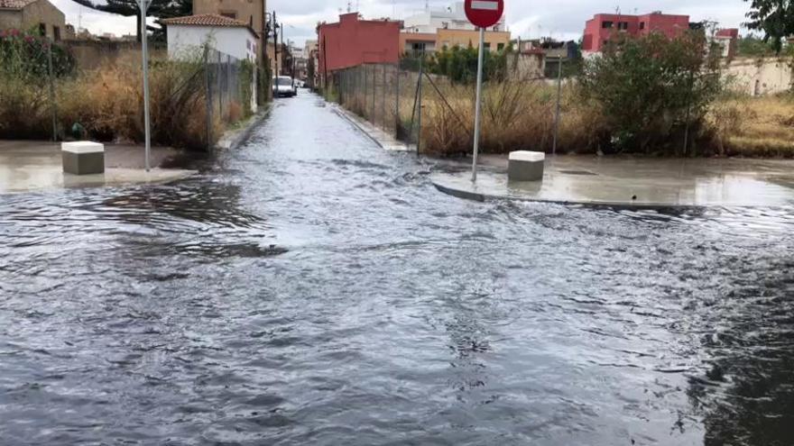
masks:
<svg viewBox="0 0 794 446"><path fill-rule="evenodd" d="M424 86L423 150L437 155L471 152L474 88L445 84L443 79L435 83L441 95L427 81ZM482 150L550 152L556 95L556 86L544 81L486 85ZM593 153L609 143L604 120L579 99L575 86L563 86L561 98L560 153ZM412 96L402 99L402 123L411 121L412 101ZM794 158L794 96L721 98L693 138L701 155Z"/></svg>

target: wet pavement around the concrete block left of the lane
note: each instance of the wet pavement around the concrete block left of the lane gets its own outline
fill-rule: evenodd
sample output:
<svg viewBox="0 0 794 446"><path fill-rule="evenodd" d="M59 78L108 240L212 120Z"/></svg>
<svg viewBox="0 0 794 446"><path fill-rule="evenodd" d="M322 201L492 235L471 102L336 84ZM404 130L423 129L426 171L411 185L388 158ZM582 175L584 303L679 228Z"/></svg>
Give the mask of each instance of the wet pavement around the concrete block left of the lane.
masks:
<svg viewBox="0 0 794 446"><path fill-rule="evenodd" d="M105 174L75 176L64 174L60 142L0 141L0 193L60 187L99 187L135 183L165 183L189 177L192 170L161 168L178 155L171 148L152 148L152 169L146 172L143 147L106 144Z"/></svg>

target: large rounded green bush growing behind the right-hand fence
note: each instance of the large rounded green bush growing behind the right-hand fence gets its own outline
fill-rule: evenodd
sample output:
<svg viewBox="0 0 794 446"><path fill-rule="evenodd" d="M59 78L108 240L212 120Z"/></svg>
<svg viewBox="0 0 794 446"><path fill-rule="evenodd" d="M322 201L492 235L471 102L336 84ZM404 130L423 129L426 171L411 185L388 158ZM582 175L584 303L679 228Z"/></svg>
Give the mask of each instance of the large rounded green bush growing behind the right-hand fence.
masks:
<svg viewBox="0 0 794 446"><path fill-rule="evenodd" d="M579 86L604 116L615 150L650 153L704 123L722 86L719 70L719 54L709 51L704 32L675 39L618 35L601 56L586 60Z"/></svg>

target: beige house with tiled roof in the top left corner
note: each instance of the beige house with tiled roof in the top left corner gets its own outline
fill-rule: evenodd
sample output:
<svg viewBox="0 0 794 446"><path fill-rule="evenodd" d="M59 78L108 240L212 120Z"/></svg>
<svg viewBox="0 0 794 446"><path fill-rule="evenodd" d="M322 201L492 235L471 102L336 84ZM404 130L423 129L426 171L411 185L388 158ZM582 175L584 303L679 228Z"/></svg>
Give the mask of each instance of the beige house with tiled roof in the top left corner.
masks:
<svg viewBox="0 0 794 446"><path fill-rule="evenodd" d="M66 17L49 0L0 0L0 31L36 31L54 41L66 34Z"/></svg>

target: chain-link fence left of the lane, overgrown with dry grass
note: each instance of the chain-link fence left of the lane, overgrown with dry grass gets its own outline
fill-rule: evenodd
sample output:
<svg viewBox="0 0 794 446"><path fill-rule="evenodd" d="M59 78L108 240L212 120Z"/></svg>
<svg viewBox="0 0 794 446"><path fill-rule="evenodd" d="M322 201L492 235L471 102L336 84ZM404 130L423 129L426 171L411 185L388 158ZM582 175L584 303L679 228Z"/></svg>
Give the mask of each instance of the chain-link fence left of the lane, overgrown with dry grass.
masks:
<svg viewBox="0 0 794 446"><path fill-rule="evenodd" d="M0 31L0 138L143 141L140 44ZM152 143L209 150L256 105L254 63L150 45Z"/></svg>

